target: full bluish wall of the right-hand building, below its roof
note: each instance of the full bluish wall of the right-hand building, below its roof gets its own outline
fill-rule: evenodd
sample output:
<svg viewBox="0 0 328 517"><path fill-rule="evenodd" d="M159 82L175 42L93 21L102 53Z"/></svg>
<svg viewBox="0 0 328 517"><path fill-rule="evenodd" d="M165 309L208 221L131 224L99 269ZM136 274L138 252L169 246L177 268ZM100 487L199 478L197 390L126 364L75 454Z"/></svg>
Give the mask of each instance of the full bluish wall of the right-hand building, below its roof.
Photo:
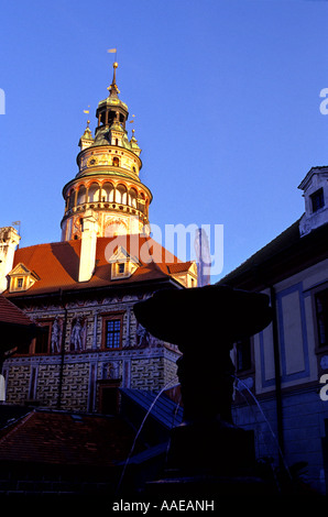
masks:
<svg viewBox="0 0 328 517"><path fill-rule="evenodd" d="M328 400L320 377L328 373L328 348L319 348L315 294L327 288L328 260L274 285L282 388L284 460L305 461L311 486L326 492ZM270 294L267 289L265 292ZM254 369L236 383L234 422L255 432L256 455L278 458L273 326L253 338ZM247 387L251 393L248 392ZM254 398L253 398L254 397ZM327 492L328 493L328 492Z"/></svg>

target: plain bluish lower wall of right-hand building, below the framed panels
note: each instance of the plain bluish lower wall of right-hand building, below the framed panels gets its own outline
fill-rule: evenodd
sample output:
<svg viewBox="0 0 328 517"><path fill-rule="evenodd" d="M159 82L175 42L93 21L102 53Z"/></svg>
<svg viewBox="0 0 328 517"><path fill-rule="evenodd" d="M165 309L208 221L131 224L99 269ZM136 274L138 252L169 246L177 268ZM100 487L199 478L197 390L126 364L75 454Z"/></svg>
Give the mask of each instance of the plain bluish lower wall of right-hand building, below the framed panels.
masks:
<svg viewBox="0 0 328 517"><path fill-rule="evenodd" d="M233 407L233 421L254 431L256 459L273 458L276 469L281 451L288 469L306 462L304 480L326 494L328 465L322 443L328 441L328 404L320 400L317 389L303 388L283 395L283 451L277 441L276 398L267 395L256 404L248 393L243 397L244 402Z"/></svg>

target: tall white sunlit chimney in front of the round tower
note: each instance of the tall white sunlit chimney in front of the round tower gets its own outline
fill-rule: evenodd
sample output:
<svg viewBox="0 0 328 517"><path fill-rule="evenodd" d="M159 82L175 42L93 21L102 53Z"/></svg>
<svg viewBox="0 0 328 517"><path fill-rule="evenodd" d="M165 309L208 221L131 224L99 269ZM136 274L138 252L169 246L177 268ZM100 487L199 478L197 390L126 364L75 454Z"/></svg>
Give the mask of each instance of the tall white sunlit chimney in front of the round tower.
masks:
<svg viewBox="0 0 328 517"><path fill-rule="evenodd" d="M83 218L78 282L88 282L95 271L97 228L94 211L87 210Z"/></svg>

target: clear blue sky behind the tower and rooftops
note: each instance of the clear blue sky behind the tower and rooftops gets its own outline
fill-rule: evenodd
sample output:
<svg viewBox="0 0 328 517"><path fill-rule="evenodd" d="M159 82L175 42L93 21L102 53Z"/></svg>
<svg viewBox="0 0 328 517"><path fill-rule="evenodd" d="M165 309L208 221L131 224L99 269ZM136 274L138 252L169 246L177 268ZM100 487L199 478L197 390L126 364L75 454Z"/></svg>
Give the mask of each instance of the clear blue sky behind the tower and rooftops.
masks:
<svg viewBox="0 0 328 517"><path fill-rule="evenodd" d="M21 220L22 246L59 241L117 47L151 222L223 224L218 279L298 219L297 186L328 164L327 22L320 0L6 2L0 226Z"/></svg>

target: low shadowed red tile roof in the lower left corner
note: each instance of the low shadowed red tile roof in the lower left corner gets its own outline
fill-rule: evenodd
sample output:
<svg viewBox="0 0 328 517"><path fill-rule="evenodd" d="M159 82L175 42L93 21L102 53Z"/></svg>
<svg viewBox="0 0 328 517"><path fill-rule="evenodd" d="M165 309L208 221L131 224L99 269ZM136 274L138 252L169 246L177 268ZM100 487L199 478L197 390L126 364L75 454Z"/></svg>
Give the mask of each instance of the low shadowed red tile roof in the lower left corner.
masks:
<svg viewBox="0 0 328 517"><path fill-rule="evenodd" d="M0 430L0 462L111 466L128 458L134 437L119 417L32 410Z"/></svg>

